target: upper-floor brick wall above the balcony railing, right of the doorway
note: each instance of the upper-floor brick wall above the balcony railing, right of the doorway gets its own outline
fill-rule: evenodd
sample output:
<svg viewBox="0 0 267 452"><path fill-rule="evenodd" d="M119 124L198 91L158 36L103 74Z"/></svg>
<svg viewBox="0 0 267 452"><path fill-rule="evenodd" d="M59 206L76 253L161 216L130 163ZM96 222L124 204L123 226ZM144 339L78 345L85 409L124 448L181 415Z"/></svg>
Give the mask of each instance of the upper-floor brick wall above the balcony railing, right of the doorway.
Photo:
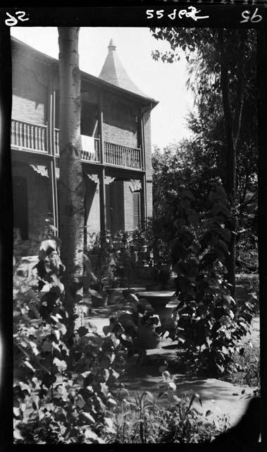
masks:
<svg viewBox="0 0 267 452"><path fill-rule="evenodd" d="M104 95L104 140L137 148L137 123L134 106L114 95Z"/></svg>

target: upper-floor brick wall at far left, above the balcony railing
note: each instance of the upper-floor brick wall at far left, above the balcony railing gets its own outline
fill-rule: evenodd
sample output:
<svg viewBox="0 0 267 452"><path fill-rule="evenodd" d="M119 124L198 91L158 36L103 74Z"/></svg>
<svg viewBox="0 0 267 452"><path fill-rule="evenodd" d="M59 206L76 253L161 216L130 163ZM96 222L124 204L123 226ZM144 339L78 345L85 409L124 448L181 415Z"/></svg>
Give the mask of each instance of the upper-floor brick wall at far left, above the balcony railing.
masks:
<svg viewBox="0 0 267 452"><path fill-rule="evenodd" d="M47 69L41 66L38 73L39 71L47 71ZM33 124L46 124L48 90L45 81L38 80L35 67L31 64L26 68L17 59L13 60L12 79L13 119Z"/></svg>

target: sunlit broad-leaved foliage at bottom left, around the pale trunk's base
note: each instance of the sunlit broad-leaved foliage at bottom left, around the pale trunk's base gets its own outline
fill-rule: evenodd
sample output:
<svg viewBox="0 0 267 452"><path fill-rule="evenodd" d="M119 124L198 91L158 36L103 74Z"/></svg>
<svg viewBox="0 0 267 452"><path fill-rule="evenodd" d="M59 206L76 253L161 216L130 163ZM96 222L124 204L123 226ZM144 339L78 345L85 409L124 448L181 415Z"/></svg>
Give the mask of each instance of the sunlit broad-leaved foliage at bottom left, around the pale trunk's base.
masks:
<svg viewBox="0 0 267 452"><path fill-rule="evenodd" d="M42 242L36 286L14 275L14 439L17 444L101 443L117 401L123 346L93 326L69 348L68 316L54 239ZM23 283L24 281L24 283ZM77 341L76 341L77 344ZM71 353L70 353L71 352ZM80 355L79 355L80 353ZM72 357L70 359L70 356Z"/></svg>

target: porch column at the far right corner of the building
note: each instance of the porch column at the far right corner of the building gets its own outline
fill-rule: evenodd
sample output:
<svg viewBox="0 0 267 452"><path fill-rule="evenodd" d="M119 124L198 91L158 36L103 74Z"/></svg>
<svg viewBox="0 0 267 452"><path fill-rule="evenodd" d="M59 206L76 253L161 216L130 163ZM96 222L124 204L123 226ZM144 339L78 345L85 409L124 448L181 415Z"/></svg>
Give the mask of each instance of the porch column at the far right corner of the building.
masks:
<svg viewBox="0 0 267 452"><path fill-rule="evenodd" d="M141 149L142 176L141 176L141 222L145 226L147 222L147 176L146 176L146 153L144 145L144 116L142 110L139 109L138 115L138 147Z"/></svg>

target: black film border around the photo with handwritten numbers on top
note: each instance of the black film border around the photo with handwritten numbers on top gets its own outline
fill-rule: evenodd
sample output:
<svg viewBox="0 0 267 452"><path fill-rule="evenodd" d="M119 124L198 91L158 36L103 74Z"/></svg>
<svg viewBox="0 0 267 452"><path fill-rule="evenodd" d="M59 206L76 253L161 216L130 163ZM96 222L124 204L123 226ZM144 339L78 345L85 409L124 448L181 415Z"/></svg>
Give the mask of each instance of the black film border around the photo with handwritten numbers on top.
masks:
<svg viewBox="0 0 267 452"><path fill-rule="evenodd" d="M11 153L10 153L10 126L11 126L11 42L10 30L4 24L6 19L6 11L15 14L15 11L25 11L29 20L22 23L22 26L131 26L131 27L153 27L153 26L182 26L182 27L225 27L238 28L240 26L248 27L251 25L240 25L240 16L244 9L254 11L258 8L258 12L263 16L260 23L253 24L253 28L258 30L258 105L259 105L259 274L260 274L260 309L261 309L261 422L262 434L261 444L255 444L254 448L246 448L247 451L258 450L266 446L267 434L267 405L266 405L266 303L267 303L267 0L235 0L232 1L147 1L147 0L125 0L123 6L118 5L118 1L113 1L112 6L90 6L83 8L75 6L67 7L1 7L0 8L0 115L1 115L1 141L0 141L0 184L1 184L1 242L0 242L0 259L1 259L1 304L0 304L0 321L1 321L1 341L2 341L2 362L1 364L1 381L2 389L1 403L1 421L0 421L0 447L13 446L13 429L12 429L12 269L13 269L13 218L12 218L12 184L11 184ZM119 2L121 5L121 2ZM127 6L126 6L127 5ZM161 20L147 20L146 10L163 9L168 13L173 12L173 8L181 8L182 6L196 6L201 13L208 13L209 20L198 20L194 22L190 19L173 21L169 18ZM202 14L201 14L202 15ZM205 14L206 15L206 14ZM15 450L18 448L29 447L13 446ZM81 445L82 446L82 445ZM124 447L124 445L121 445ZM127 447L135 447L135 444L127 445ZM170 445L168 445L169 447ZM173 446L173 445L172 445ZM54 446L49 446L50 448ZM60 446L67 448L66 446ZM113 451L118 446L103 445L99 447L108 448ZM148 448L149 446L145 446ZM161 444L155 444L153 448L162 447ZM175 445L180 449L181 446ZM199 447L190 444L190 448ZM188 449L186 447L186 449ZM31 448L31 446L30 446ZM36 445L33 445L35 450ZM58 450L58 446L55 446ZM212 447L207 446L206 448ZM205 448L205 449L206 449ZM4 450L4 449L3 449ZM218 447L216 448L218 450ZM219 449L220 450L220 449ZM225 449L224 449L225 450ZM235 449L236 450L236 449ZM244 450L244 449L243 449Z"/></svg>

